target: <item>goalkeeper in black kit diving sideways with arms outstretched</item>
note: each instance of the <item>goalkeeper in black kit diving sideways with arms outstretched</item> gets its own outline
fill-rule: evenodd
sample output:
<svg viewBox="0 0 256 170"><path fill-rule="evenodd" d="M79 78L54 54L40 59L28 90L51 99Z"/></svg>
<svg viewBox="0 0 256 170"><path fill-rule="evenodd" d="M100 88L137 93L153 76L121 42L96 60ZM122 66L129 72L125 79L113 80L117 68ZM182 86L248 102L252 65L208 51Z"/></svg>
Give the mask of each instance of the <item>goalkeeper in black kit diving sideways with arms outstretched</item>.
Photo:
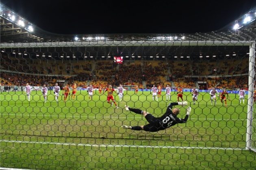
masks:
<svg viewBox="0 0 256 170"><path fill-rule="evenodd" d="M188 105L188 102L178 102L178 103L171 103L167 107L167 110L165 114L161 117L154 117L150 113L147 113L144 110L140 110L137 108L130 108L129 106L126 106L125 109L126 111L132 111L137 114L143 115L149 124L147 125L142 125L142 126L127 126L127 125L122 125L124 129L131 129L131 130L144 130L147 132L157 132L159 130L165 130L168 127L171 127L173 125L176 125L177 123L186 123L190 112L191 112L191 107L187 108L187 114L184 119L180 119L177 117L177 115L180 113L180 109L178 108L173 108L172 106L175 105L181 105L181 106L186 106Z"/></svg>

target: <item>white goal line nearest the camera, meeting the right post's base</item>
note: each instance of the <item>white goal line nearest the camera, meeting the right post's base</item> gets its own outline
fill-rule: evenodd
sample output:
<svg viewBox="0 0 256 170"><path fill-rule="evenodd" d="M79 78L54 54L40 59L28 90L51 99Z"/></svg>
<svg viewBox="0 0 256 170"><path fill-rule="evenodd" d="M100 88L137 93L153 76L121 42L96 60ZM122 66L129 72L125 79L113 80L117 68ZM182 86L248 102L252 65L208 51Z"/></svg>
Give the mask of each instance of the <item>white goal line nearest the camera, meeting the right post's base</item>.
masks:
<svg viewBox="0 0 256 170"><path fill-rule="evenodd" d="M222 148L222 147L181 147L181 146L145 146L145 145L128 145L128 144L82 144L82 143L61 143L61 142L35 142L35 141L17 141L17 140L0 140L0 142L9 143L26 143L26 144L53 144L53 145L65 145L65 146L83 146L83 147L111 147L111 148L152 148L152 149L214 149L214 150L245 150L242 148Z"/></svg>

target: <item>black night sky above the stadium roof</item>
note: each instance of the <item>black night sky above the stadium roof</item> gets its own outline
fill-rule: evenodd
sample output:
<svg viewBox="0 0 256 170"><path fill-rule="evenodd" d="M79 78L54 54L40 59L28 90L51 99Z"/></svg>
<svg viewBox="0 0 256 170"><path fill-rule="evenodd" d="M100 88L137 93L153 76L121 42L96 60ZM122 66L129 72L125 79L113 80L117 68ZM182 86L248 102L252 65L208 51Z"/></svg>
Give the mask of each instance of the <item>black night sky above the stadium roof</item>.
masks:
<svg viewBox="0 0 256 170"><path fill-rule="evenodd" d="M219 30L256 0L1 0L57 34L195 33Z"/></svg>

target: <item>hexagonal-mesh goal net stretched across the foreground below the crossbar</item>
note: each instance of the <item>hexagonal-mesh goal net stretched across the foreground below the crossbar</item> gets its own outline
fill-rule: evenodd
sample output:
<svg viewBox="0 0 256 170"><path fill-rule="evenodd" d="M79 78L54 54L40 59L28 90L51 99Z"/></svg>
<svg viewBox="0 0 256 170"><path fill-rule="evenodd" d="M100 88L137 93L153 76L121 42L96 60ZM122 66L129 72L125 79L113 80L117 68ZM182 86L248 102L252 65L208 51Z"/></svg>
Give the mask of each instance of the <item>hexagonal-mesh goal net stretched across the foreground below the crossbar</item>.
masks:
<svg viewBox="0 0 256 170"><path fill-rule="evenodd" d="M121 69L113 62L120 56L117 47L124 56ZM254 41L7 43L1 44L0 57L2 167L250 169L256 165L251 152L256 150ZM135 84L127 84L128 80ZM143 83L150 89L135 92ZM104 89L119 84L127 89L124 95L113 93L113 100L108 98ZM157 96L150 91L154 84L161 89ZM97 90L90 92L90 85ZM167 86L172 87L170 94ZM193 87L199 87L197 98ZM210 95L213 87L216 94ZM224 89L228 94L222 94ZM178 100L192 108L187 123L158 132L121 127L148 124L143 115L126 111L126 105L161 117ZM187 106L176 107L184 119Z"/></svg>

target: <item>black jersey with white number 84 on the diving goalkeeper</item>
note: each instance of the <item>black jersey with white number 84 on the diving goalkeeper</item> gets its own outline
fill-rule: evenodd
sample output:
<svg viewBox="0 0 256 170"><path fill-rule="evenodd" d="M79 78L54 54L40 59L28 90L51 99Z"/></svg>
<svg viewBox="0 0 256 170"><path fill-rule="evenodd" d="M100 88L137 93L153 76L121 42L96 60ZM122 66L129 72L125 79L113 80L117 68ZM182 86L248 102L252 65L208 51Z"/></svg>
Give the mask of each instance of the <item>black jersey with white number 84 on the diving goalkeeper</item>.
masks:
<svg viewBox="0 0 256 170"><path fill-rule="evenodd" d="M177 123L186 123L189 118L188 115L185 116L184 119L178 118L174 113L172 113L172 106L178 105L178 103L171 103L167 107L165 114L158 118L159 124L164 128L168 128L170 126L176 125Z"/></svg>

